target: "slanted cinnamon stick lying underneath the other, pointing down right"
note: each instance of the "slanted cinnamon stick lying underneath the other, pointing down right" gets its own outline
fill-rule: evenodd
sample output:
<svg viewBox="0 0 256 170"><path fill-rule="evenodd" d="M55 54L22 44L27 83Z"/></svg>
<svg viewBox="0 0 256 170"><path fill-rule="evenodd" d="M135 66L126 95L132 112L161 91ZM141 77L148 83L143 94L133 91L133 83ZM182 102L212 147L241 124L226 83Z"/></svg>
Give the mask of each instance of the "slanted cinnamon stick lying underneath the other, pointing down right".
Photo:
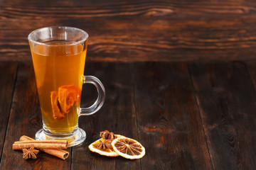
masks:
<svg viewBox="0 0 256 170"><path fill-rule="evenodd" d="M27 140L33 140L33 141L36 141L34 140L33 138L31 137L28 137L26 135L23 135L21 138L20 138L20 141L27 141ZM55 157L58 157L60 159L67 159L68 156L69 156L69 152L63 150L63 149L40 149L42 152L46 152L47 154L51 154Z"/></svg>

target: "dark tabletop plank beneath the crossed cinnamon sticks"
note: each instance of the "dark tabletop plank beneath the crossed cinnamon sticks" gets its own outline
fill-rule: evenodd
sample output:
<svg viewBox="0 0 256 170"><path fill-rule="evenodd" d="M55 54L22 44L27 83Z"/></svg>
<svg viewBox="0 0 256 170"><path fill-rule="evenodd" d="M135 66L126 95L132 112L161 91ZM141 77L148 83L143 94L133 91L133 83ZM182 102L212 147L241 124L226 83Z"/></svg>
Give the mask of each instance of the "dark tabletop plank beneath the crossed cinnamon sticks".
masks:
<svg viewBox="0 0 256 170"><path fill-rule="evenodd" d="M24 160L12 144L22 135L33 137L42 128L36 80L31 63L18 66L17 81L6 131L0 169L70 169L70 157L62 159L40 152L38 159ZM70 149L68 149L70 150Z"/></svg>

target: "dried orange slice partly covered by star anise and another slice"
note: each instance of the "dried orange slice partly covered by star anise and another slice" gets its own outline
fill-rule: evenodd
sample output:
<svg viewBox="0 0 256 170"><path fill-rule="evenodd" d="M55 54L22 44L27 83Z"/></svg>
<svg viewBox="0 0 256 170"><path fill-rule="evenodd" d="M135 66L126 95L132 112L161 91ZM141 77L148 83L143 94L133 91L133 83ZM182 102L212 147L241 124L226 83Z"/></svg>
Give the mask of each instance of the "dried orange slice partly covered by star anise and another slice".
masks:
<svg viewBox="0 0 256 170"><path fill-rule="evenodd" d="M100 143L100 141L104 142L105 140L101 138L100 140L96 140L91 145L89 145L89 149L91 152L96 152L98 154L101 154L101 155L104 155L107 157L118 157L119 156L119 154L117 154L117 152L114 152L112 147L110 149L97 149L97 147L95 147L95 145Z"/></svg>

